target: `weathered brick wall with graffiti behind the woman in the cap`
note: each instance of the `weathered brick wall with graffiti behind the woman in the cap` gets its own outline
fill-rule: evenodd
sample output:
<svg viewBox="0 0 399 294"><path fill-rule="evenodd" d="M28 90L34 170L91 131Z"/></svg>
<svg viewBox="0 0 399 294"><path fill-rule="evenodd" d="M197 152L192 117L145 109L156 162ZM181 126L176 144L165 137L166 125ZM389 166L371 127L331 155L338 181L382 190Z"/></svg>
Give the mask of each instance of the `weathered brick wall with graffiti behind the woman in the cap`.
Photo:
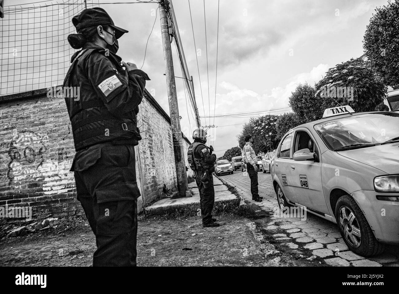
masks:
<svg viewBox="0 0 399 294"><path fill-rule="evenodd" d="M33 218L82 214L69 172L75 148L64 99L47 98L45 89L1 96L0 117L0 206L32 207ZM136 146L141 211L164 185L176 187L176 168L170 118L148 92L138 126L143 138ZM187 152L190 141L183 141Z"/></svg>

